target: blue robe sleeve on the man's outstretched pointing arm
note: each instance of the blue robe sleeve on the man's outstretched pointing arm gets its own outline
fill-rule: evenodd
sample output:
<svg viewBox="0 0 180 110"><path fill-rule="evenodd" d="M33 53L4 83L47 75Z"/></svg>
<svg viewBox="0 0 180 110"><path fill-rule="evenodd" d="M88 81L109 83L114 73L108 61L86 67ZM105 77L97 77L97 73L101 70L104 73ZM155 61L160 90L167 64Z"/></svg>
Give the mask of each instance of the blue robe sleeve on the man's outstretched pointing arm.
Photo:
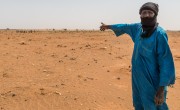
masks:
<svg viewBox="0 0 180 110"><path fill-rule="evenodd" d="M138 26L140 23L134 24L114 24L111 25L110 28L114 31L115 35L118 37L124 33L130 35L133 42L135 41L135 36L137 34Z"/></svg>

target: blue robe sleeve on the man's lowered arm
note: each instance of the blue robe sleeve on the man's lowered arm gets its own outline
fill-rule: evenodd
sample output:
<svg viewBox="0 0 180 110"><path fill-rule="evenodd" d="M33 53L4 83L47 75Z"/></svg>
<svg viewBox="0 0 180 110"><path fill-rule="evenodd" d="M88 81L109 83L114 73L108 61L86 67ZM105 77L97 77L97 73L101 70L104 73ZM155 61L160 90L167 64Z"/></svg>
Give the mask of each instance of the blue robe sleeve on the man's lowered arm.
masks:
<svg viewBox="0 0 180 110"><path fill-rule="evenodd" d="M159 86L169 86L175 83L175 67L167 34L157 36L157 60L159 64Z"/></svg>

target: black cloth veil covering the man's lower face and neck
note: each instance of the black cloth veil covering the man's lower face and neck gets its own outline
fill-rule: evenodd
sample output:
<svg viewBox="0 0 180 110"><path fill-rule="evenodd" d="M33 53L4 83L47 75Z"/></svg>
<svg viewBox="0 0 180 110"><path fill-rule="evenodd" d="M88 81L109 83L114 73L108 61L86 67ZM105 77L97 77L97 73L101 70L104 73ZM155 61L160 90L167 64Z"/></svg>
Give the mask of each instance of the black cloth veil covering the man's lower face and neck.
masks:
<svg viewBox="0 0 180 110"><path fill-rule="evenodd" d="M154 17L141 18L141 24L143 29L141 37L150 37L158 26L156 15Z"/></svg>

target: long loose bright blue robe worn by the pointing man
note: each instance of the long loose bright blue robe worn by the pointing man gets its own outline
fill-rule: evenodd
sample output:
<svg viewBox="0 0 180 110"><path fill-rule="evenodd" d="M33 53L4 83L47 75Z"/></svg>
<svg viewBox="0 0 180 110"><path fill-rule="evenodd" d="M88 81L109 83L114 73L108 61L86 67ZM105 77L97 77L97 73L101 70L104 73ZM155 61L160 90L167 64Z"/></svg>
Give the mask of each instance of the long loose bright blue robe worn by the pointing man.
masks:
<svg viewBox="0 0 180 110"><path fill-rule="evenodd" d="M110 26L116 36L130 35L134 42L132 55L132 92L135 110L168 110L166 101L156 106L154 97L159 86L175 83L175 67L166 32L157 27L148 38L142 38L140 23Z"/></svg>

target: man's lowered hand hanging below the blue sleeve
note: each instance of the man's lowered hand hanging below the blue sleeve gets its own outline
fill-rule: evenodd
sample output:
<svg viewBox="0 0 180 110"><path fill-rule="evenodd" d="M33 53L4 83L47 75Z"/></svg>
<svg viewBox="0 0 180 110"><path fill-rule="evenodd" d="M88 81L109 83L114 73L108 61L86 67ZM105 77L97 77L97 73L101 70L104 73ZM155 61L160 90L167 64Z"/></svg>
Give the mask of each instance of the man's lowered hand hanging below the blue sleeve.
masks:
<svg viewBox="0 0 180 110"><path fill-rule="evenodd" d="M161 105L164 103L164 86L159 87L156 96L154 98L156 105Z"/></svg>

